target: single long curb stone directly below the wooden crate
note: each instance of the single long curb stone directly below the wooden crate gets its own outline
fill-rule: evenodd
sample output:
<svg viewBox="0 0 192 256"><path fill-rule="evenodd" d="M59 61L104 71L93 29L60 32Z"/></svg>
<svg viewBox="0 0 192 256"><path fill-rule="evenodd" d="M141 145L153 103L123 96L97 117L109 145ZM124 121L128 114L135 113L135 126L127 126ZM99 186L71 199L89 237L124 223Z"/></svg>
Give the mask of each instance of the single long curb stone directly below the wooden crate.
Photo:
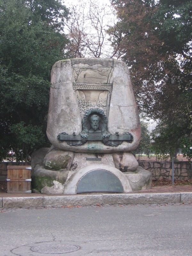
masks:
<svg viewBox="0 0 192 256"><path fill-rule="evenodd" d="M3 197L4 208L43 207L43 196Z"/></svg>

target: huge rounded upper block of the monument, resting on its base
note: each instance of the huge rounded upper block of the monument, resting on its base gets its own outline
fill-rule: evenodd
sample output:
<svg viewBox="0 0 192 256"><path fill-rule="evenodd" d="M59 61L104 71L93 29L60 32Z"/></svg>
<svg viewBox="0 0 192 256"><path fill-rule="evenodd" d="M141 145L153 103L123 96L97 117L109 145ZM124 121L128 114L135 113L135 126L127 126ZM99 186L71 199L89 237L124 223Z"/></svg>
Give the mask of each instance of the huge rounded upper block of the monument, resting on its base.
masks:
<svg viewBox="0 0 192 256"><path fill-rule="evenodd" d="M47 137L54 147L82 153L129 152L137 148L140 122L125 63L100 58L60 60L53 65L51 82L58 87L50 89L47 121ZM106 117L108 134L106 137L99 128L101 132L97 133L92 125L95 132L90 133L88 127L84 142L84 116L92 109ZM96 119L90 117L92 123ZM76 146L78 141L80 146Z"/></svg>

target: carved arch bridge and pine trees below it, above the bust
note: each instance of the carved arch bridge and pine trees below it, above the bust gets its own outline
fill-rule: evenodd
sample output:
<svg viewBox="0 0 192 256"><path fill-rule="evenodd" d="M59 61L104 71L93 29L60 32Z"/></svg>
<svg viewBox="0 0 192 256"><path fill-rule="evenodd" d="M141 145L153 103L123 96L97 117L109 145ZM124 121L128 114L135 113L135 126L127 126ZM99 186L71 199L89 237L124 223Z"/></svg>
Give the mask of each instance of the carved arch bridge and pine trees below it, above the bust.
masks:
<svg viewBox="0 0 192 256"><path fill-rule="evenodd" d="M108 116L112 84L73 84L76 92L80 115L83 118L86 110L102 109Z"/></svg>

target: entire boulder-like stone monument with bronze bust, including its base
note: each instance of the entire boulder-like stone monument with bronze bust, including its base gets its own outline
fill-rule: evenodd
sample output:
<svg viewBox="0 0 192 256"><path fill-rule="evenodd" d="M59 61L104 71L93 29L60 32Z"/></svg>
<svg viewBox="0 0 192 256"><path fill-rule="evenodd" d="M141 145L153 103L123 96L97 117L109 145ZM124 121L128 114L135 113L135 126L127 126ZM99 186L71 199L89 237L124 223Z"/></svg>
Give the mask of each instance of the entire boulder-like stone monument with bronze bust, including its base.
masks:
<svg viewBox="0 0 192 256"><path fill-rule="evenodd" d="M51 72L47 136L32 155L33 192L125 193L150 188L151 173L130 153L140 121L126 64L115 59L56 62Z"/></svg>

